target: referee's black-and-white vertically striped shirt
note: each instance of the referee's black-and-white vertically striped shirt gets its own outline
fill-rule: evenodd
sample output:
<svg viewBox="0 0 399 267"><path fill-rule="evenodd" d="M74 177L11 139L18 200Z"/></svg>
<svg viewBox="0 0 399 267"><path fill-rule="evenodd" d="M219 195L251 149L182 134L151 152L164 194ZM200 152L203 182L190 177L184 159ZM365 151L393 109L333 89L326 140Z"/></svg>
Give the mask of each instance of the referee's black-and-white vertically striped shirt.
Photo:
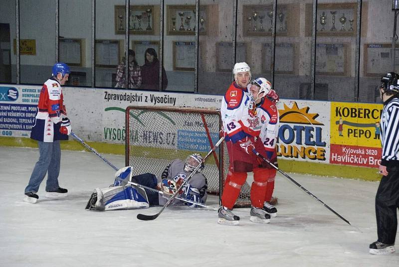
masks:
<svg viewBox="0 0 399 267"><path fill-rule="evenodd" d="M383 114L381 116L381 142L383 144L381 165L388 166L389 163L399 163L398 97L392 97L384 102ZM398 161L396 162L396 160Z"/></svg>

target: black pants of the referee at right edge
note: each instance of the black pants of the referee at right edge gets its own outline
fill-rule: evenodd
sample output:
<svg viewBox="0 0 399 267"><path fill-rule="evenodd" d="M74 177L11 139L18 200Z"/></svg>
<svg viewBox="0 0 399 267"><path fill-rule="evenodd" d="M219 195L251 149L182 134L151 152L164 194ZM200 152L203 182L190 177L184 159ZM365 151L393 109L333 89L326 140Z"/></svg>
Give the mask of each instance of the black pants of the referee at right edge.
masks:
<svg viewBox="0 0 399 267"><path fill-rule="evenodd" d="M376 195L376 218L378 241L395 244L399 208L399 166L388 166L388 175L383 176Z"/></svg>

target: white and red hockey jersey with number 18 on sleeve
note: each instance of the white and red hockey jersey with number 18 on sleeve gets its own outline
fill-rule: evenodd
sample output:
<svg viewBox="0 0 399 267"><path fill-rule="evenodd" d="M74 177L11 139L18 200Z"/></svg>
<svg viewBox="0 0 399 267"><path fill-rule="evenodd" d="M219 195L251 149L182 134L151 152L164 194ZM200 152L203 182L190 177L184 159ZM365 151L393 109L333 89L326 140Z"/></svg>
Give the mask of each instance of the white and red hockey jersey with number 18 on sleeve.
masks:
<svg viewBox="0 0 399 267"><path fill-rule="evenodd" d="M233 143L252 135L258 136L261 121L248 88L241 88L232 82L223 97L220 109L226 140Z"/></svg>

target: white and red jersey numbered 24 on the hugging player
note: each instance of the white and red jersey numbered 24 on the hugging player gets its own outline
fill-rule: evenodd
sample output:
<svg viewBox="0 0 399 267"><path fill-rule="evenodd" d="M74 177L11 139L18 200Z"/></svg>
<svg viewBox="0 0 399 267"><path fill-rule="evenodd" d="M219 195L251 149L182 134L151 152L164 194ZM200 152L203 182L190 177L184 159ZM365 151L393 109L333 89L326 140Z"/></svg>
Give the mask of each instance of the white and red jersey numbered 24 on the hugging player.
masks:
<svg viewBox="0 0 399 267"><path fill-rule="evenodd" d="M262 140L265 150L274 152L280 122L277 107L267 98L263 98L256 106L256 116L260 118L261 123L259 137Z"/></svg>

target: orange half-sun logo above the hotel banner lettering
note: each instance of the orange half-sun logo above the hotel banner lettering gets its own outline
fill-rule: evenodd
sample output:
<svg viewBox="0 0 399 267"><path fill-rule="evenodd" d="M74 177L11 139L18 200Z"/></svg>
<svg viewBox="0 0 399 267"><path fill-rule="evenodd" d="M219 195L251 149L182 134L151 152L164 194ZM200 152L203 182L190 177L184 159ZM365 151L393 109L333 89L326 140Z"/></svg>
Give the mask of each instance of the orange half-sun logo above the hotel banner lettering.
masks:
<svg viewBox="0 0 399 267"><path fill-rule="evenodd" d="M291 108L284 104L284 109L278 110L280 114L280 123L324 125L315 120L319 117L319 114L309 113L309 109L309 107L299 109L296 102L294 102Z"/></svg>

